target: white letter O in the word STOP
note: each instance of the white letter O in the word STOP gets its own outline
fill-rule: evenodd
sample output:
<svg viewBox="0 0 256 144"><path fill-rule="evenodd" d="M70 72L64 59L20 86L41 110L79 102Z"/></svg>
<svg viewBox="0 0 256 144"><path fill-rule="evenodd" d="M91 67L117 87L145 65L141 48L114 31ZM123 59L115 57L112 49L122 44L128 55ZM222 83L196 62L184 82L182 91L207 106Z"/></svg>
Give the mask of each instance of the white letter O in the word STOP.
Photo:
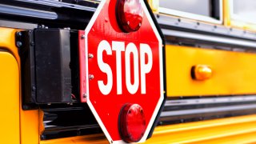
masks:
<svg viewBox="0 0 256 144"><path fill-rule="evenodd" d="M130 82L130 54L134 56L134 84ZM126 87L130 94L135 94L138 90L138 50L134 43L126 46Z"/></svg>

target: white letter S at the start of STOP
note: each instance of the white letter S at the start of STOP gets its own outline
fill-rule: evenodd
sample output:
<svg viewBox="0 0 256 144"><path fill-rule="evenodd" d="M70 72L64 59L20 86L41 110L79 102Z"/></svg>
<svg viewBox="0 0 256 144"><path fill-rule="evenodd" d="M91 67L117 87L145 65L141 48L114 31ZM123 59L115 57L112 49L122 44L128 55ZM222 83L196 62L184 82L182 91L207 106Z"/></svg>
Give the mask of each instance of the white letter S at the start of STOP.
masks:
<svg viewBox="0 0 256 144"><path fill-rule="evenodd" d="M113 76L112 76L112 70L108 64L103 62L102 53L106 50L106 54L112 55L112 50L109 42L106 42L103 40L98 45L97 50L97 61L98 61L98 67L102 72L106 73L107 76L107 83L106 85L103 83L103 81L98 81L98 88L101 90L102 94L107 95L110 94L110 91L113 86Z"/></svg>

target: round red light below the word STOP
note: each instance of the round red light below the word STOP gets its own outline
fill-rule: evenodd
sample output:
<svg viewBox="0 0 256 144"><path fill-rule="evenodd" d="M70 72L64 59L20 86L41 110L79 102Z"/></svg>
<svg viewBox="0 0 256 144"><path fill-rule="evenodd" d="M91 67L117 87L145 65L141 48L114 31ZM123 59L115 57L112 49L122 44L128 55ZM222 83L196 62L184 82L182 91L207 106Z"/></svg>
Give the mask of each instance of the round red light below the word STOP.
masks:
<svg viewBox="0 0 256 144"><path fill-rule="evenodd" d="M119 115L119 132L125 142L138 142L146 130L145 114L138 104L126 104Z"/></svg>

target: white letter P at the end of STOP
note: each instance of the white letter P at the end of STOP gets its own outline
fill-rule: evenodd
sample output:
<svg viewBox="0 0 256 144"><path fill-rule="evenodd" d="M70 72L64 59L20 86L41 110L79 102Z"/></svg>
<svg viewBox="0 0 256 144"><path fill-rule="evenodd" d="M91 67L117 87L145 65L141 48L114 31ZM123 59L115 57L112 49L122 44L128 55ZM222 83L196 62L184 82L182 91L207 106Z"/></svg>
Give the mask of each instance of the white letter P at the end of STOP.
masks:
<svg viewBox="0 0 256 144"><path fill-rule="evenodd" d="M145 54L147 54L148 62L145 63ZM140 44L140 66L141 66L141 91L146 94L146 74L152 69L152 50L147 44Z"/></svg>

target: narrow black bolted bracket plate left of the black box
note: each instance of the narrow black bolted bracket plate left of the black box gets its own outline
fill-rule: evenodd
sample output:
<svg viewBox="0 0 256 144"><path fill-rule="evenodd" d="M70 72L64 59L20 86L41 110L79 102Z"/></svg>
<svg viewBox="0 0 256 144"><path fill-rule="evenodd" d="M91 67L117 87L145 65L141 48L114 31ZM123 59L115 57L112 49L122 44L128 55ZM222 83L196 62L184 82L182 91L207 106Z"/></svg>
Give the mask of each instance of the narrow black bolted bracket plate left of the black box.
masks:
<svg viewBox="0 0 256 144"><path fill-rule="evenodd" d="M16 45L21 58L22 108L34 109L36 97L34 74L34 34L32 30L16 33ZM31 42L31 43L30 43Z"/></svg>

